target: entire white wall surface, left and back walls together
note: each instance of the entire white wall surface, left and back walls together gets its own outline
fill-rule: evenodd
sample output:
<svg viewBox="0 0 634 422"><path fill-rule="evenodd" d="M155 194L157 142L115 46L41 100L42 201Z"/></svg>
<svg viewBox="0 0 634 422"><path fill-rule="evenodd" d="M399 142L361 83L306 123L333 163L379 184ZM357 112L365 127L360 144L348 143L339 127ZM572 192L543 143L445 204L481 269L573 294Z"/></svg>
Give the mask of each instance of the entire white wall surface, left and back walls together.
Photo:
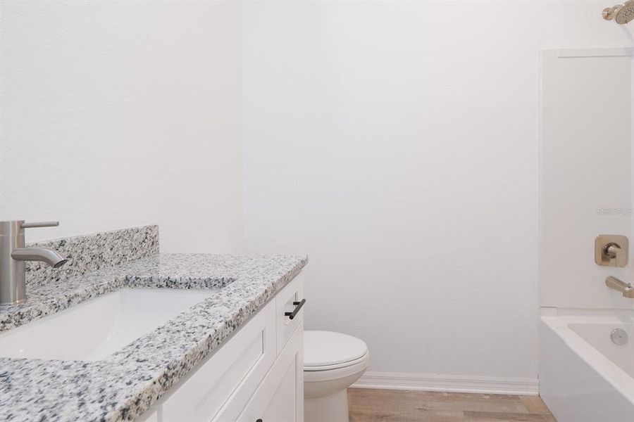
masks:
<svg viewBox="0 0 634 422"><path fill-rule="evenodd" d="M538 51L630 45L605 6L3 1L0 219L240 248L242 117L247 249L310 255L309 328L534 380Z"/></svg>

